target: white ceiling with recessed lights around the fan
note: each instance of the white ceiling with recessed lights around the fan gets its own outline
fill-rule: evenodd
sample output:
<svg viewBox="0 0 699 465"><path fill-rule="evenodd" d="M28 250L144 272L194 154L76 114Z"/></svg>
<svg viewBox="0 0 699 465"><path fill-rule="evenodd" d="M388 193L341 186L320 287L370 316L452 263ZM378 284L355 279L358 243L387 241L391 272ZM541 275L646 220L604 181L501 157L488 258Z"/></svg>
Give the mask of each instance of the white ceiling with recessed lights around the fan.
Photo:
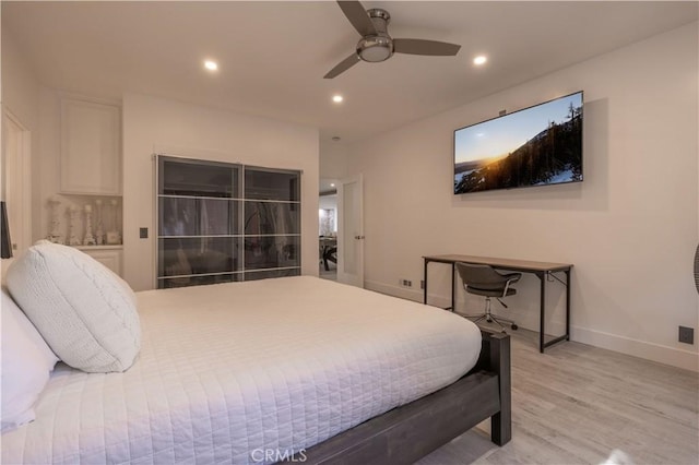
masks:
<svg viewBox="0 0 699 465"><path fill-rule="evenodd" d="M364 5L390 12L393 37L462 48L457 57L360 62L323 80L359 39L334 1L2 1L2 34L50 87L147 93L318 127L321 140L347 143L697 21L699 10L695 1ZM472 64L478 53L489 59L482 68ZM217 72L203 69L205 58Z"/></svg>

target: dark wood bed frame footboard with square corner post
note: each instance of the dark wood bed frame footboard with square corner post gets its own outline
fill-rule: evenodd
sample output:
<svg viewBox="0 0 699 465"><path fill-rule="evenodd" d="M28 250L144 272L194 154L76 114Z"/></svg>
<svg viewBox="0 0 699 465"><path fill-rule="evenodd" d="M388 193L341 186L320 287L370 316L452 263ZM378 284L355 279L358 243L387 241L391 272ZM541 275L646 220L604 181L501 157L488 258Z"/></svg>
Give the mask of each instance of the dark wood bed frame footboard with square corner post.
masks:
<svg viewBox="0 0 699 465"><path fill-rule="evenodd" d="M476 366L453 384L305 451L305 464L412 464L490 418L490 440L512 438L510 336L482 330Z"/></svg>

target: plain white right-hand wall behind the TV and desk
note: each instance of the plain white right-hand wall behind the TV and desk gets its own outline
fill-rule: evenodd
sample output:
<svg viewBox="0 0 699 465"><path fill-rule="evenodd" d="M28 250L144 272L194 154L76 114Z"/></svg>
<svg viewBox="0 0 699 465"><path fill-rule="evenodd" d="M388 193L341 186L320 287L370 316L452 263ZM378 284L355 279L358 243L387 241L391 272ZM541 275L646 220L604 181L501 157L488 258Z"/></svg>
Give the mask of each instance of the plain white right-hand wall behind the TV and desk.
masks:
<svg viewBox="0 0 699 465"><path fill-rule="evenodd" d="M697 344L677 342L677 326L699 318L697 36L694 23L352 146L366 287L422 299L398 279L418 283L425 254L573 263L574 341L697 370ZM452 195L454 129L579 90L584 182ZM430 266L430 299L443 305L447 266ZM514 319L536 329L538 281L518 287ZM559 327L565 294L549 289Z"/></svg>

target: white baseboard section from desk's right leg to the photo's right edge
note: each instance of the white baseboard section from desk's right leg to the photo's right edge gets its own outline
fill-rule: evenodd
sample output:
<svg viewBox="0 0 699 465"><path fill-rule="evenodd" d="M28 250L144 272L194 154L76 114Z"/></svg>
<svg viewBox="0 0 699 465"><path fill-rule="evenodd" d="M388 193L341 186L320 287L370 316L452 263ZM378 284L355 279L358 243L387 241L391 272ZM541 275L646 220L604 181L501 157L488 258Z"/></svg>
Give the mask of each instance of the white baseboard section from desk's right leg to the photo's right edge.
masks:
<svg viewBox="0 0 699 465"><path fill-rule="evenodd" d="M616 334L571 326L570 339L579 343L618 351L633 357L670 365L690 371L699 371L699 354L675 347L632 339Z"/></svg>

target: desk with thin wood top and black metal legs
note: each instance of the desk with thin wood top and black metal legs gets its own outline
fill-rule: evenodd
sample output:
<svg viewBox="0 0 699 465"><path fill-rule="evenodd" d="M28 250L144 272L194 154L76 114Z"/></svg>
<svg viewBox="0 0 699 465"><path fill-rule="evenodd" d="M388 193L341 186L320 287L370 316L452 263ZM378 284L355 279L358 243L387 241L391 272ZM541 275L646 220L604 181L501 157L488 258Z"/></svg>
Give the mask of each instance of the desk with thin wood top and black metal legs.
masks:
<svg viewBox="0 0 699 465"><path fill-rule="evenodd" d="M451 264L451 307L448 310L454 311L454 297L457 293L457 277L455 277L455 263L477 263L483 265L490 265L495 269L516 271L522 273L532 273L538 277L541 282L541 315L540 315L540 332L538 332L538 350L544 353L544 349L561 341L570 339L570 269L571 264L568 263L547 263L547 262L532 262L526 260L510 260L510 259L494 259L489 257L471 257L471 255L425 255L425 270L424 270L424 296L423 303L427 303L427 264L430 262ZM566 274L566 281L559 279L554 273L562 272ZM566 334L559 337L555 337L545 342L545 312L546 312L546 281L548 277L553 277L564 286L566 286Z"/></svg>

